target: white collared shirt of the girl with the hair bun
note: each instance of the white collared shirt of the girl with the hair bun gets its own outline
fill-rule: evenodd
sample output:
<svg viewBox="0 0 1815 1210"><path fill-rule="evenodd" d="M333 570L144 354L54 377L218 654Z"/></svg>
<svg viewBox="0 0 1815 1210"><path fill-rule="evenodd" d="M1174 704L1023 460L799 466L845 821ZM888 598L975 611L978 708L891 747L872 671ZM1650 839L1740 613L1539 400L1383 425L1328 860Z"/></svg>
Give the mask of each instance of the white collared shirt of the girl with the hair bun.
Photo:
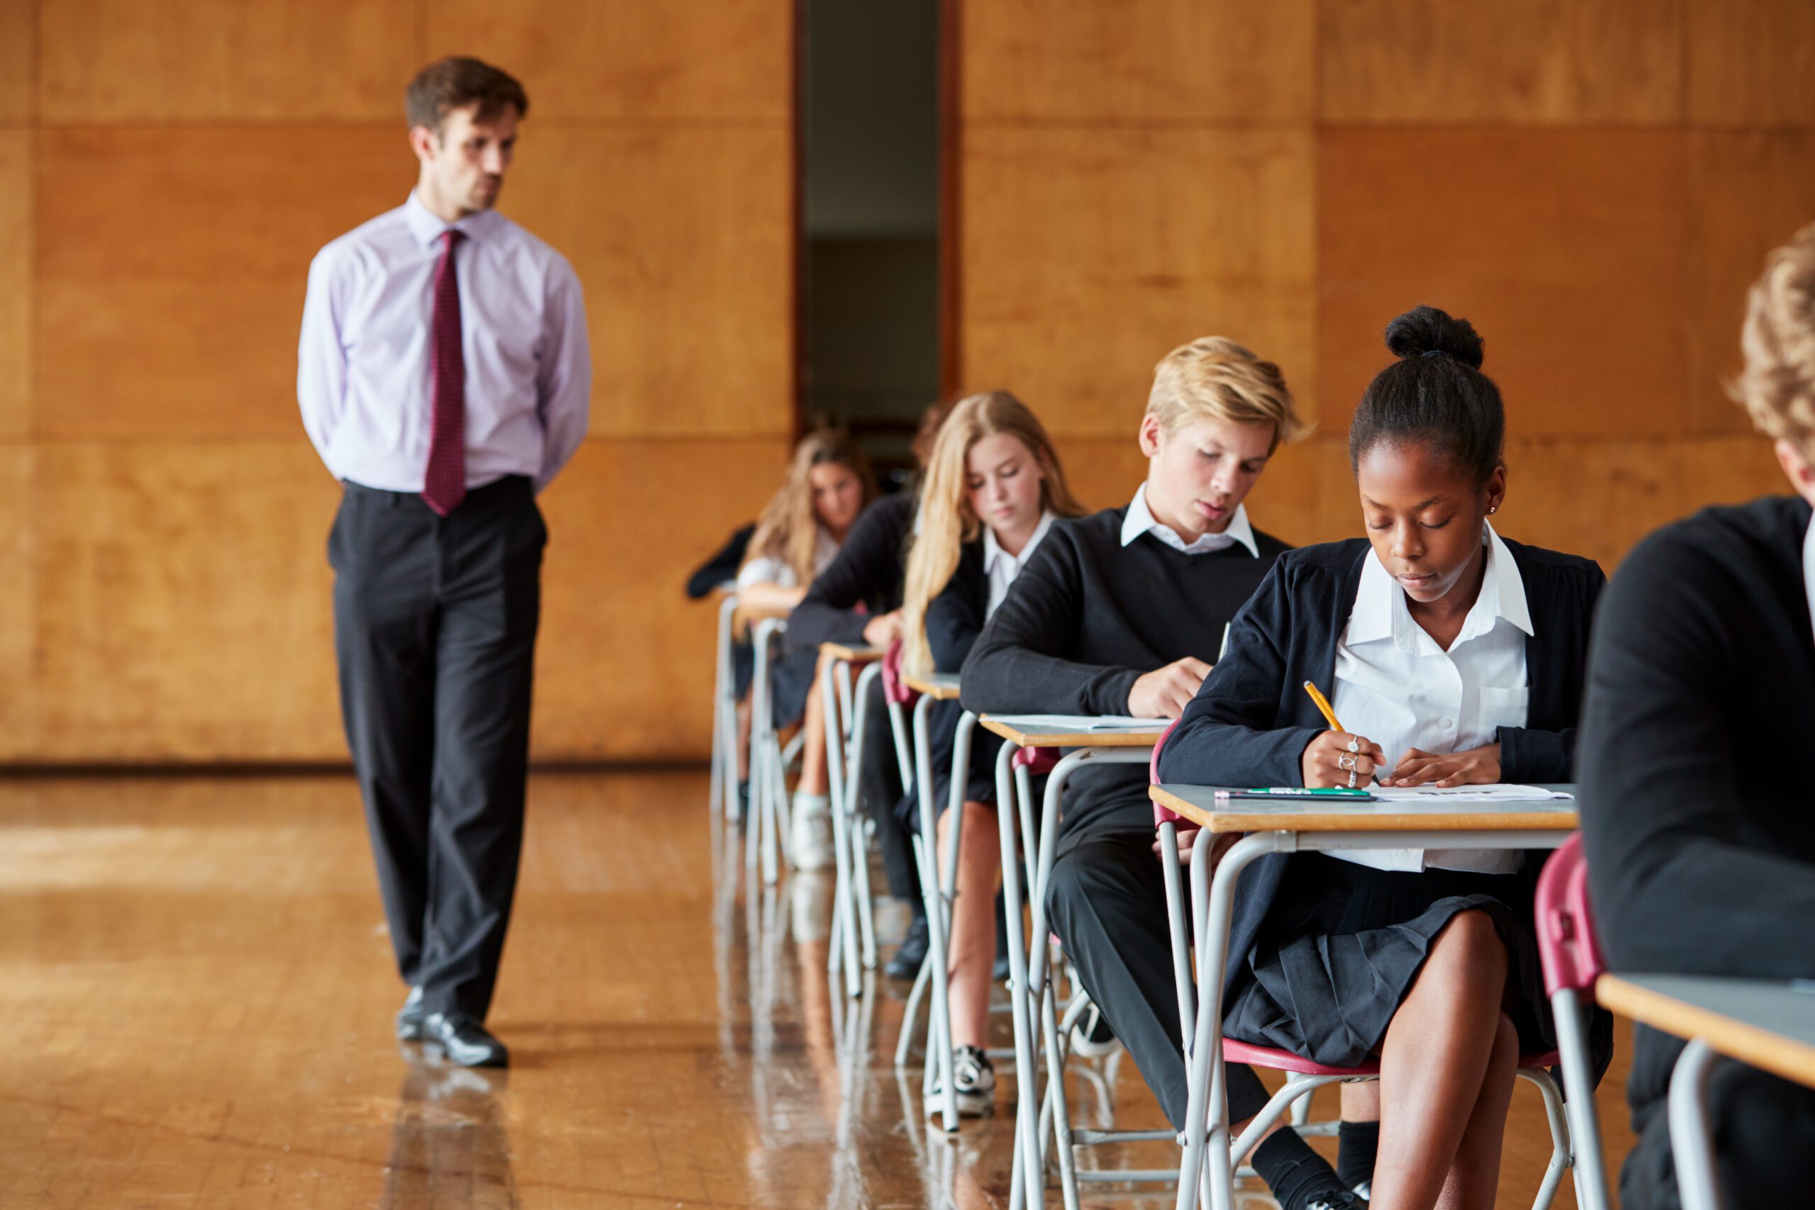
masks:
<svg viewBox="0 0 1815 1210"><path fill-rule="evenodd" d="M1506 544L1485 526L1486 571L1481 595L1445 651L1412 620L1405 590L1369 551L1349 628L1336 644L1330 707L1350 735L1387 755L1390 773L1418 747L1459 753L1496 740L1499 727L1523 727L1530 682L1525 640L1532 611L1525 581ZM1470 869L1510 874L1525 864L1517 849L1358 849L1332 853L1376 869Z"/></svg>

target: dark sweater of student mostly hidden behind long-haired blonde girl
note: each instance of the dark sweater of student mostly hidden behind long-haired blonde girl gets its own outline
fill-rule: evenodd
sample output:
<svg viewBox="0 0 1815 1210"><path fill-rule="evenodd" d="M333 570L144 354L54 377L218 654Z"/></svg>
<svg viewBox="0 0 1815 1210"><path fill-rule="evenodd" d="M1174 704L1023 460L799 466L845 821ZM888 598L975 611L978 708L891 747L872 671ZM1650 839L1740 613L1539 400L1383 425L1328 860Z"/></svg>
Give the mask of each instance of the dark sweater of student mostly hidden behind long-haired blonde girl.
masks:
<svg viewBox="0 0 1815 1210"><path fill-rule="evenodd" d="M884 495L862 512L844 535L839 557L813 577L806 597L788 617L790 648L858 644L869 619L900 608L913 512L913 492ZM864 606L868 613L857 613L857 606Z"/></svg>

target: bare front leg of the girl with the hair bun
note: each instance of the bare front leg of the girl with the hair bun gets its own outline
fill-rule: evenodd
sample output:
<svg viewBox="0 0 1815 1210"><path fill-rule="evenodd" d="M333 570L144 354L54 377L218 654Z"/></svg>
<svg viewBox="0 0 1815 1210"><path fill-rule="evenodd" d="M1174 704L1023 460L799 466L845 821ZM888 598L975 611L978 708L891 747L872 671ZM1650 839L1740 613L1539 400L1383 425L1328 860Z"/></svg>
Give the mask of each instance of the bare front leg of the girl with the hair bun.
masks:
<svg viewBox="0 0 1815 1210"><path fill-rule="evenodd" d="M1483 1098L1505 989L1506 947L1494 922L1486 912L1457 914L1437 934L1381 1045L1378 1205L1437 1205ZM1505 1103L1499 1114L1505 1119ZM1456 1205L1490 1206L1492 1188L1488 1181L1485 1203Z"/></svg>

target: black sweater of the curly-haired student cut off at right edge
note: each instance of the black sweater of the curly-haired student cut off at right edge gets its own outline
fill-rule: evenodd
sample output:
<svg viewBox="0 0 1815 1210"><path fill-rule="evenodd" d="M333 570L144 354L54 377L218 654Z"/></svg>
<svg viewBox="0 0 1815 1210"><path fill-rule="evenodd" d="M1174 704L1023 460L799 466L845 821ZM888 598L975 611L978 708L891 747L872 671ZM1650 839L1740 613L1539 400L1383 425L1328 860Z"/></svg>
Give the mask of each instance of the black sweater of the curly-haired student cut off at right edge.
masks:
<svg viewBox="0 0 1815 1210"><path fill-rule="evenodd" d="M1702 510L1639 542L1601 604L1579 764L1615 971L1815 978L1808 526L1795 497ZM1635 1128L1681 1050L1637 1030Z"/></svg>

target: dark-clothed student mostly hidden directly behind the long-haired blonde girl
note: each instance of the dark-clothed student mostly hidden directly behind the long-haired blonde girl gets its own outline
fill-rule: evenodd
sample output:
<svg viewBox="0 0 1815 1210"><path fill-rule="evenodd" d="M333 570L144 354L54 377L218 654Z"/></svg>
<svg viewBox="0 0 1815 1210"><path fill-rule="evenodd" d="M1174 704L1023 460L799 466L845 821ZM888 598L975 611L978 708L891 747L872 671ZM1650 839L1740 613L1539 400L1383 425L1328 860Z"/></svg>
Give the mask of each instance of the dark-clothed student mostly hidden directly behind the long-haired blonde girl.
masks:
<svg viewBox="0 0 1815 1210"><path fill-rule="evenodd" d="M849 642L888 649L900 639L902 564L913 532L918 472L926 466L949 410L949 403L935 403L920 414L920 428L913 439L915 473L898 492L877 499L851 526L839 557L795 606L788 620L790 648L817 649L822 642ZM913 840L895 818L895 804L906 787L900 784L880 680L875 682L866 718L866 760L858 771L858 789L864 809L877 822L877 847L889 894L906 902L913 912L908 938L884 971L891 978L911 980L926 960L926 903L913 864Z"/></svg>

